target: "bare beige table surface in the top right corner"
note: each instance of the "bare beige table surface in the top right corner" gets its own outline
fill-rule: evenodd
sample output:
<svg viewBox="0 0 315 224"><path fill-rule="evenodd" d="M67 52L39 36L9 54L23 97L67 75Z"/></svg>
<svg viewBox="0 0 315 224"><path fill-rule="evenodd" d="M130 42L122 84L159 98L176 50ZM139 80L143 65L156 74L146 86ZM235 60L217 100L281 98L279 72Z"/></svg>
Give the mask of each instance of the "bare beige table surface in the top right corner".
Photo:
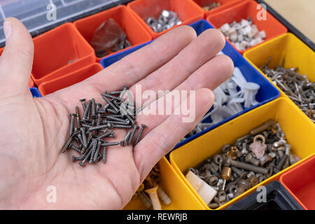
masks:
<svg viewBox="0 0 315 224"><path fill-rule="evenodd" d="M315 0L265 0L315 43Z"/></svg>

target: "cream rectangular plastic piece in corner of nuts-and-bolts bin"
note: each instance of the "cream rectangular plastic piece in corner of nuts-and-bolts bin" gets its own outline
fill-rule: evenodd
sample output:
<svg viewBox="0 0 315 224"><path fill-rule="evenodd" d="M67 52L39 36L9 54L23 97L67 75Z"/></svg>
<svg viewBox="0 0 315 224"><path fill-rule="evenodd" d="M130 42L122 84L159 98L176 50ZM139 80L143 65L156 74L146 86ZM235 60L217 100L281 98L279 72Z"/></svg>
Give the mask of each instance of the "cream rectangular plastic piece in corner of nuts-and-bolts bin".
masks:
<svg viewBox="0 0 315 224"><path fill-rule="evenodd" d="M198 195L200 195L204 203L209 204L211 200L214 199L214 196L216 196L217 191L214 190L214 188L211 188L208 183L204 182L193 172L189 171L188 174L186 174L186 179L197 191Z"/></svg>

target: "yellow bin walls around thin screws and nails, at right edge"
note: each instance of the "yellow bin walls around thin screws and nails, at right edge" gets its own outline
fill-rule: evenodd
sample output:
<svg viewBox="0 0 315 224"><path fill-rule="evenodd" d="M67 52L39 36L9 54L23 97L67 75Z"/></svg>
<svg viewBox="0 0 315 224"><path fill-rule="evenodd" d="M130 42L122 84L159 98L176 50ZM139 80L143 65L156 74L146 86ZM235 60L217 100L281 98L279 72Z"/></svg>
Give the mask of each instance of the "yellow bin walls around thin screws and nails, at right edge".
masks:
<svg viewBox="0 0 315 224"><path fill-rule="evenodd" d="M283 34L262 43L244 52L244 57L256 69L268 62L269 57L272 57L272 61L269 64L270 68L276 65L281 66L284 59L285 68L298 67L299 73L306 75L309 81L315 82L315 52L293 34ZM258 71L262 73L260 69ZM279 91L282 97L287 97L280 89ZM294 104L293 102L291 103Z"/></svg>

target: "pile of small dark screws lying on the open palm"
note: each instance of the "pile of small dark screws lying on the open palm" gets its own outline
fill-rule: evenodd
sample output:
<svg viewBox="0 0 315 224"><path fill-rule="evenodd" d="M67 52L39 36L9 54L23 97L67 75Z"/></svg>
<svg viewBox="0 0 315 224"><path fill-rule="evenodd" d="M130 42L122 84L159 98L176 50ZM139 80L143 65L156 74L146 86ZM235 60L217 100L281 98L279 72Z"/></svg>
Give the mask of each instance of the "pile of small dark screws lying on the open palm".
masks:
<svg viewBox="0 0 315 224"><path fill-rule="evenodd" d="M125 102L125 93L127 101ZM73 155L72 162L80 160L79 165L85 167L85 162L90 164L102 160L106 162L106 151L109 146L130 146L137 130L134 100L128 87L121 91L104 92L102 97L107 103L105 106L96 103L95 99L90 99L85 104L85 99L80 99L83 107L83 116L80 117L79 107L76 106L76 113L70 113L69 139L62 148L65 153L68 148L80 153L80 156ZM76 125L74 125L76 123ZM136 146L144 132L146 125L141 125L141 129L134 141ZM130 130L122 141L106 141L106 138L115 139L113 128ZM107 131L108 130L108 131ZM103 149L103 151L102 151ZM101 153L102 152L102 153Z"/></svg>

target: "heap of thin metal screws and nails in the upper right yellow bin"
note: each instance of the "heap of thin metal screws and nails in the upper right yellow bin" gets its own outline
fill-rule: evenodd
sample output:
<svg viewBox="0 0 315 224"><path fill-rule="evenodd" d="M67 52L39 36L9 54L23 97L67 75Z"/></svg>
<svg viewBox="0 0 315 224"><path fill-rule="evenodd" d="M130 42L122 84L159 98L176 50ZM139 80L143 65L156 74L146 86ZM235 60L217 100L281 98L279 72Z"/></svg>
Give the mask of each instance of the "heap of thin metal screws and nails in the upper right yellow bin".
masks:
<svg viewBox="0 0 315 224"><path fill-rule="evenodd" d="M269 58L260 69L315 123L315 82L297 73L298 68L285 69L282 65L269 69L271 61Z"/></svg>

